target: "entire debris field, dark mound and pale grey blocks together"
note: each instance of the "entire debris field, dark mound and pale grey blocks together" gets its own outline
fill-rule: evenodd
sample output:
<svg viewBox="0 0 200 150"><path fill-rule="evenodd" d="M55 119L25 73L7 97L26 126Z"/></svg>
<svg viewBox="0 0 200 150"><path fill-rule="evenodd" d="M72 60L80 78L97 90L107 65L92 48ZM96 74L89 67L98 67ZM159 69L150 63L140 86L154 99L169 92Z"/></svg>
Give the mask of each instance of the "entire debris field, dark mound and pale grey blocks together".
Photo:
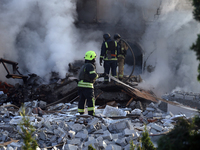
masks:
<svg viewBox="0 0 200 150"><path fill-rule="evenodd" d="M69 69L77 74L75 65L70 64ZM67 74L59 79L52 73L50 84L45 85L36 74L29 76L26 85L0 82L1 149L20 149L23 145L21 103L36 129L33 137L38 150L87 150L90 144L97 150L128 150L130 141L140 144L145 127L151 137L160 136L172 130L179 118L187 119L183 113L170 112L167 103L159 102L151 91L102 82L95 84L96 115L87 115L87 109L80 115L75 77ZM163 99L200 108L200 94L196 93L176 91Z"/></svg>

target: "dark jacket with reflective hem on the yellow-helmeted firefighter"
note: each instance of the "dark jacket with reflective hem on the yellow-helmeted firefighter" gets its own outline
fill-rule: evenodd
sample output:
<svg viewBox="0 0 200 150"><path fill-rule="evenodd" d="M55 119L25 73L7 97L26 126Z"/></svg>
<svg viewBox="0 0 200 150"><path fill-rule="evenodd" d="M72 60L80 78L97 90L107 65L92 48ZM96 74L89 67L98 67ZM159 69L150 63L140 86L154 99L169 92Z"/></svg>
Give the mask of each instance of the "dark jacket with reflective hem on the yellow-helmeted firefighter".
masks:
<svg viewBox="0 0 200 150"><path fill-rule="evenodd" d="M93 84L97 78L95 65L86 60L80 69L78 87L94 88Z"/></svg>

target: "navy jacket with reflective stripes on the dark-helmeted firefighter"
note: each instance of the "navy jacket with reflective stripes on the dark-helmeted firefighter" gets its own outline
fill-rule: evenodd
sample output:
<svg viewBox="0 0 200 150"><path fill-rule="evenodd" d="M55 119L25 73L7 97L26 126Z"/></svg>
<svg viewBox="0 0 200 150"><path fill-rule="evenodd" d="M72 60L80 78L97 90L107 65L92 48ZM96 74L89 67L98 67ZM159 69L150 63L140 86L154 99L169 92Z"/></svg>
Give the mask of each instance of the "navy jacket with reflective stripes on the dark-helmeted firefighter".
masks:
<svg viewBox="0 0 200 150"><path fill-rule="evenodd" d="M117 42L112 39L107 39L102 43L100 58L105 60L117 60L118 46Z"/></svg>

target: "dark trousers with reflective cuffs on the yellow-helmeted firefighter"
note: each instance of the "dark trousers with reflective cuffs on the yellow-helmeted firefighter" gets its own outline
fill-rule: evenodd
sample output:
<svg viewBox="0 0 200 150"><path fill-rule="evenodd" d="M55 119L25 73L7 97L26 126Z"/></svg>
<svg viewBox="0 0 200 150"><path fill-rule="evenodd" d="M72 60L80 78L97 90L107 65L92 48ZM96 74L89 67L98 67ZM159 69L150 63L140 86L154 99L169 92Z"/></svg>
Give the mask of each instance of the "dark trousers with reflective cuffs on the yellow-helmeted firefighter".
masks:
<svg viewBox="0 0 200 150"><path fill-rule="evenodd" d="M94 96L94 89L93 88L78 88L79 94L79 103L78 103L78 112L80 114L84 114L85 106L87 103L88 106L88 114L95 115L95 96Z"/></svg>

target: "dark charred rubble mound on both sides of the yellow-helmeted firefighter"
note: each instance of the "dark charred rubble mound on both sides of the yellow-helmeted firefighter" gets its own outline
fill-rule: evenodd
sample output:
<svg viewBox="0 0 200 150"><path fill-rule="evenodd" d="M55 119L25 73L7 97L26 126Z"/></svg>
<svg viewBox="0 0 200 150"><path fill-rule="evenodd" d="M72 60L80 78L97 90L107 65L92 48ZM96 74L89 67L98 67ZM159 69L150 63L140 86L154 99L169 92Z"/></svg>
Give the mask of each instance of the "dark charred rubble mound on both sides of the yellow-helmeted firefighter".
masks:
<svg viewBox="0 0 200 150"><path fill-rule="evenodd" d="M45 101L47 104L55 104L58 102L71 102L78 99L77 78L74 74L66 75L66 78L60 79L59 75L52 73L50 82L45 82L36 74L29 74L26 84L9 85L4 82L6 86L2 86L4 91L4 99L0 99L0 105L10 102L18 107L24 102L29 101ZM130 78L131 83L136 83L135 76ZM138 81L137 81L138 82ZM142 101L142 105L145 108L146 103L151 101L157 102L156 98L147 96L148 91L142 89L129 89L132 85L125 84L128 87L124 87L120 84L108 84L104 85L101 81L97 81L95 87L96 104L103 105L110 101L120 102L123 106L128 106L133 100ZM136 85L135 85L136 86ZM141 108L142 109L142 108Z"/></svg>

